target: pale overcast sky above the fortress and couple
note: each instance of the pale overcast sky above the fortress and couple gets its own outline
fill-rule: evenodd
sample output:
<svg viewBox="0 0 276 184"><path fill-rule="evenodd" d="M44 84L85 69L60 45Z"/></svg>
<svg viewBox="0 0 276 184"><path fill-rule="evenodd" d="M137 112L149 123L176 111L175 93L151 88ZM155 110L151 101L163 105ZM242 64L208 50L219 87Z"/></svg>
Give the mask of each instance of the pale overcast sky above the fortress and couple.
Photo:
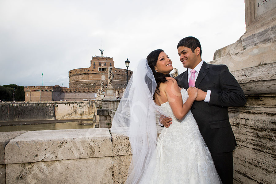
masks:
<svg viewBox="0 0 276 184"><path fill-rule="evenodd" d="M163 49L179 73L176 45L199 39L202 59L245 32L241 0L1 0L0 85L69 87L68 71L90 67L92 56L113 57L125 68Z"/></svg>

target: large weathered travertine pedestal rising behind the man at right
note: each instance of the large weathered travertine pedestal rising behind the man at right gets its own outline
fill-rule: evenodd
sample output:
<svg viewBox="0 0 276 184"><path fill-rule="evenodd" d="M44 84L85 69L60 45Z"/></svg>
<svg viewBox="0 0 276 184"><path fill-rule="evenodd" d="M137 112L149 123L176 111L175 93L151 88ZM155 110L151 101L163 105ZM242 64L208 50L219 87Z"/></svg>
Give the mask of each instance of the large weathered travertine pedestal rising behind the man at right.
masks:
<svg viewBox="0 0 276 184"><path fill-rule="evenodd" d="M234 183L276 183L276 1L245 0L246 32L217 50L212 64L226 64L247 96L228 108L238 147Z"/></svg>

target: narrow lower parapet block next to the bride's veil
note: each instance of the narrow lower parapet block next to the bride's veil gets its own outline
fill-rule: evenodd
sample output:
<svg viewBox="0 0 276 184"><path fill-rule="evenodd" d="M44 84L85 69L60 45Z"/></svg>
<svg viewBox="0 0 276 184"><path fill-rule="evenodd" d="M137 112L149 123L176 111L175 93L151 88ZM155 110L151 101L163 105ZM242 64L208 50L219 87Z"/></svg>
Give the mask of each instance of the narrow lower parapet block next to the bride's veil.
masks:
<svg viewBox="0 0 276 184"><path fill-rule="evenodd" d="M132 155L122 155L112 157L112 180L113 184L125 183L128 176L128 167L131 163Z"/></svg>

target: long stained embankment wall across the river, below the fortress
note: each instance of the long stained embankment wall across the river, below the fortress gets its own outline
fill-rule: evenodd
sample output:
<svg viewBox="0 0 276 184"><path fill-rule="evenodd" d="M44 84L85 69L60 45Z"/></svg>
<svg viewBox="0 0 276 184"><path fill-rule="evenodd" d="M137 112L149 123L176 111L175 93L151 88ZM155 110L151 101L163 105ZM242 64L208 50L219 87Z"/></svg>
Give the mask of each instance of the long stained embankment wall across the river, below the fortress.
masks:
<svg viewBox="0 0 276 184"><path fill-rule="evenodd" d="M0 122L92 119L95 108L95 101L0 102Z"/></svg>

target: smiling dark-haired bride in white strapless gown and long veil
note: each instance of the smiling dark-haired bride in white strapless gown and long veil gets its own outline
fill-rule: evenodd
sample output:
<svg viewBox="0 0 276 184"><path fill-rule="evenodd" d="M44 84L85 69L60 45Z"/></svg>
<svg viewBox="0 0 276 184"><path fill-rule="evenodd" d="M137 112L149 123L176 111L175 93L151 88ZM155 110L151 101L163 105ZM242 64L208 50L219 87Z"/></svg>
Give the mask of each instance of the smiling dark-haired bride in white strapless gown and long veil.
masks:
<svg viewBox="0 0 276 184"><path fill-rule="evenodd" d="M133 71L113 118L111 132L126 134L131 143L126 183L221 183L190 111L198 89L180 89L172 70L163 50L152 51ZM159 115L173 123L157 141Z"/></svg>

